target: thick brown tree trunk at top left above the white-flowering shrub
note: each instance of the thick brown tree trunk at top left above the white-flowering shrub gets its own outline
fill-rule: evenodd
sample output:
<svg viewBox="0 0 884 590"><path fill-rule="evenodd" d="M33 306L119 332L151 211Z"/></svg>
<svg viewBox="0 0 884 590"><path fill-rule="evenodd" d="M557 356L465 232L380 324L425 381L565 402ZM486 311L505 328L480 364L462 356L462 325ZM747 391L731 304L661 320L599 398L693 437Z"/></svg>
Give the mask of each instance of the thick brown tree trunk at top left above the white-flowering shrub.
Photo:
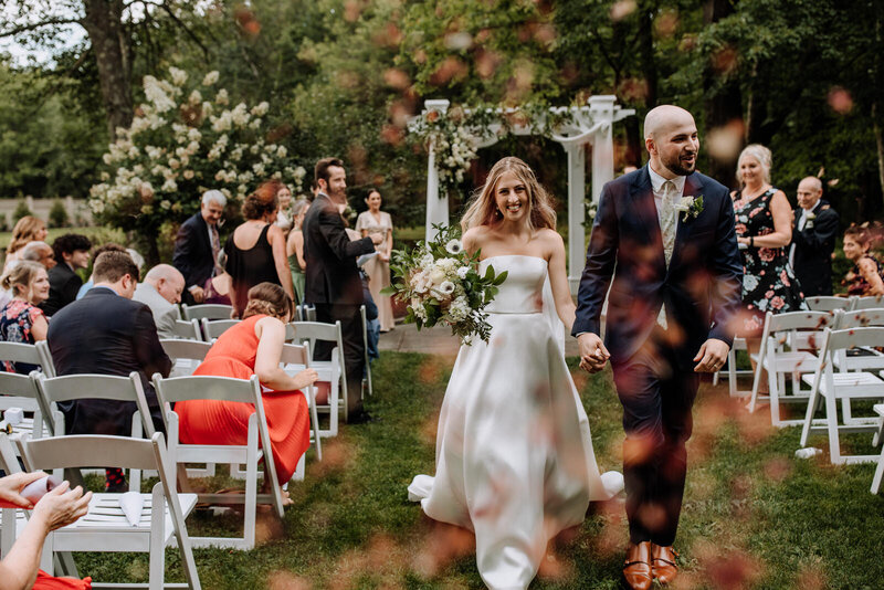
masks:
<svg viewBox="0 0 884 590"><path fill-rule="evenodd" d="M98 66L102 98L107 110L110 139L117 127L131 124L129 39L123 24L123 0L83 0L83 27L90 35Z"/></svg>

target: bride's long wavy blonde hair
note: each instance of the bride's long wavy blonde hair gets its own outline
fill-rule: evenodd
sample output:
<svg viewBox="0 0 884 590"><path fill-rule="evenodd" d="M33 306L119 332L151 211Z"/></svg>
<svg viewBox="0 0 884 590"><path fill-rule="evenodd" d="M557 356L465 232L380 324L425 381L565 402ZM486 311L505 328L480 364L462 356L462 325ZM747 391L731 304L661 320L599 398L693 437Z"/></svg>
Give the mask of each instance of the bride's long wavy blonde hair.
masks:
<svg viewBox="0 0 884 590"><path fill-rule="evenodd" d="M556 229L556 210L552 208L552 198L537 182L537 177L530 167L520 159L508 156L498 160L491 171L485 185L473 193L473 199L466 207L461 218L461 230L465 233L476 225L494 226L503 220L503 213L497 210L494 193L497 182L505 172L516 175L528 189L528 226L532 231L540 228Z"/></svg>

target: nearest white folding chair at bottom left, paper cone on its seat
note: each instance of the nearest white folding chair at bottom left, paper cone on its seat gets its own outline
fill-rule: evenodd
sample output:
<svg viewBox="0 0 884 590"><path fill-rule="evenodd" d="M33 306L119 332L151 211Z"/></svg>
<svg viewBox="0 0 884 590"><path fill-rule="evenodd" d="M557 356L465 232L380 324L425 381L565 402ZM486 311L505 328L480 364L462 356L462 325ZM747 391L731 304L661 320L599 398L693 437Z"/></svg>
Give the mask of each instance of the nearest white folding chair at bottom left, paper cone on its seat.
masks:
<svg viewBox="0 0 884 590"><path fill-rule="evenodd" d="M141 551L150 555L147 583L93 582L93 588L201 588L185 525L185 518L197 505L197 496L176 493L173 472L167 468L169 460L162 433L154 433L150 440L72 435L39 440L22 438L18 442L30 471L109 465L159 473L159 482L151 493L141 494L144 508L138 524L130 525L123 514L119 506L122 494L94 494L86 516L49 535L46 549L50 554ZM181 552L187 583L165 583L166 547L175 545Z"/></svg>

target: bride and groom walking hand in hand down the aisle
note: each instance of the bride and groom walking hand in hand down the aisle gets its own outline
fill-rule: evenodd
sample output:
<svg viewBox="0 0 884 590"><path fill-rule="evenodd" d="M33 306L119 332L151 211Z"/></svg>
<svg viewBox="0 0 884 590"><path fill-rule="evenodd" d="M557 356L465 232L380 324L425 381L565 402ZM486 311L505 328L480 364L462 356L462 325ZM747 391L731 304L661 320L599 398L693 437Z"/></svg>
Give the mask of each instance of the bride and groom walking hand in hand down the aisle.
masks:
<svg viewBox="0 0 884 590"><path fill-rule="evenodd" d="M549 539L591 501L625 483L622 583L648 589L677 572L673 549L701 372L733 339L743 265L727 189L695 172L691 114L652 109L649 165L606 185L577 305L550 198L530 168L504 158L462 220L480 271L507 271L488 304L490 341L463 346L439 418L435 476L409 497L435 520L469 528L486 586L524 589ZM610 294L609 294L610 286ZM608 298L604 341L600 316ZM562 324L580 367L609 362L623 405L623 477L599 473L589 421L565 362Z"/></svg>

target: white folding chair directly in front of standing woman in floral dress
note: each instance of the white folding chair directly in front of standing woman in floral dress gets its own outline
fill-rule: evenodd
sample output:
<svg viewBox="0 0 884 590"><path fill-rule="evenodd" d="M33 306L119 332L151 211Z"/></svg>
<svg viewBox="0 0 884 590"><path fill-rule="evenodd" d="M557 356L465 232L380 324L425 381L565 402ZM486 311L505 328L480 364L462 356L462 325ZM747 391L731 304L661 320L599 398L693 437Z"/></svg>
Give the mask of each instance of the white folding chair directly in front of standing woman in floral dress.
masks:
<svg viewBox="0 0 884 590"><path fill-rule="evenodd" d="M749 412L755 412L760 401L770 403L770 420L775 426L797 425L800 419L780 418L780 403L807 403L809 392L801 390L799 376L812 373L819 365L815 354L808 349L819 349L817 339L820 330L831 326L834 320L828 312L788 312L765 316L761 346L754 356L756 361ZM767 371L769 393L759 394L761 373ZM786 393L786 376L792 379L792 391Z"/></svg>

